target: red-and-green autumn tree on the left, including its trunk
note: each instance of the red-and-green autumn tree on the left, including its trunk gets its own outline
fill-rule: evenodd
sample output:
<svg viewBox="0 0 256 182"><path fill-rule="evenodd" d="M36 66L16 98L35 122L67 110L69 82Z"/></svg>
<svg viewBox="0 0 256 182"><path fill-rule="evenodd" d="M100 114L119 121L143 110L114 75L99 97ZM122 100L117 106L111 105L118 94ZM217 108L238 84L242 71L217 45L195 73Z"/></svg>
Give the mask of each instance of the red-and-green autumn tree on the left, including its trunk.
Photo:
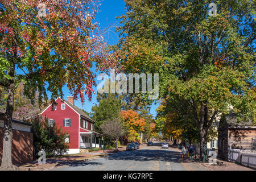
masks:
<svg viewBox="0 0 256 182"><path fill-rule="evenodd" d="M90 99L96 85L90 69L93 63L97 69L114 64L102 36L95 34L97 11L93 0L0 2L0 85L7 90L6 110L0 113L4 120L2 167L12 166L11 118L20 82L32 104L36 93L39 105L46 104L48 90L55 105L55 98L63 97L64 85L84 102L85 94Z"/></svg>

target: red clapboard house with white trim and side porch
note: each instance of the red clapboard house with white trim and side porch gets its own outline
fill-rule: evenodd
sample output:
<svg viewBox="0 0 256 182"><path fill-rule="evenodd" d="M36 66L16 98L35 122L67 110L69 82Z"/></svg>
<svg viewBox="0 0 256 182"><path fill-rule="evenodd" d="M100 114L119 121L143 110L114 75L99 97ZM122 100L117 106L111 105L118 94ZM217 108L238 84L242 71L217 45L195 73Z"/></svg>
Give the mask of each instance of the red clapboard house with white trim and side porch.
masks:
<svg viewBox="0 0 256 182"><path fill-rule="evenodd" d="M57 98L57 105L52 110L49 105L40 115L48 118L50 125L61 126L64 132L68 131L65 142L69 143L68 154L77 154L81 149L103 147L103 135L94 130L94 121L75 106L73 97L67 101Z"/></svg>

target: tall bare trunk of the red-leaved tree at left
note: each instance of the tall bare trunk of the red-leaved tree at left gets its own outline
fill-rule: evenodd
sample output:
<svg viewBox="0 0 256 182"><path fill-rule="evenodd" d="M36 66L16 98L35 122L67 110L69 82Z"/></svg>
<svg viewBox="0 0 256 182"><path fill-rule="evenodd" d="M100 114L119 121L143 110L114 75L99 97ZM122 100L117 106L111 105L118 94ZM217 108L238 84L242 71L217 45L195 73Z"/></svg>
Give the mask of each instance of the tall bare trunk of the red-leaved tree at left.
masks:
<svg viewBox="0 0 256 182"><path fill-rule="evenodd" d="M14 108L14 71L15 64L13 63L12 67L9 69L9 76L12 79L8 84L8 93L7 93L7 105L5 112L5 119L3 124L3 156L1 167L11 167L13 162L11 160L11 146L13 144L13 127L12 121L13 118L13 108Z"/></svg>

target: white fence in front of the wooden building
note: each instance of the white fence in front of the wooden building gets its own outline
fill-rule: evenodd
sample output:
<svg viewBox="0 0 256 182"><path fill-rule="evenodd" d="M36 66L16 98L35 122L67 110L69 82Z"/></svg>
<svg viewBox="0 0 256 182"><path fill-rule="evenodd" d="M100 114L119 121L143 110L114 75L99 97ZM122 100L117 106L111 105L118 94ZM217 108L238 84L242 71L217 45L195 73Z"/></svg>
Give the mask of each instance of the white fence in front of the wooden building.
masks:
<svg viewBox="0 0 256 182"><path fill-rule="evenodd" d="M228 160L256 168L256 151L255 150L240 150L240 149L229 149Z"/></svg>

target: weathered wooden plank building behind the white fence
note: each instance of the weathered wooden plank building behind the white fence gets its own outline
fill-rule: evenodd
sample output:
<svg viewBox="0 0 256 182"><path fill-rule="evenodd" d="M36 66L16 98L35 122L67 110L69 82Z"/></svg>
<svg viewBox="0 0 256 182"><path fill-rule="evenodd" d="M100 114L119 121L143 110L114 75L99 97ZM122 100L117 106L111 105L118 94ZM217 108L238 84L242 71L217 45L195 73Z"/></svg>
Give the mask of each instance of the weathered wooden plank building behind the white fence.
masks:
<svg viewBox="0 0 256 182"><path fill-rule="evenodd" d="M237 114L222 115L218 127L218 158L228 159L230 148L255 150L256 126L251 121L237 122Z"/></svg>

